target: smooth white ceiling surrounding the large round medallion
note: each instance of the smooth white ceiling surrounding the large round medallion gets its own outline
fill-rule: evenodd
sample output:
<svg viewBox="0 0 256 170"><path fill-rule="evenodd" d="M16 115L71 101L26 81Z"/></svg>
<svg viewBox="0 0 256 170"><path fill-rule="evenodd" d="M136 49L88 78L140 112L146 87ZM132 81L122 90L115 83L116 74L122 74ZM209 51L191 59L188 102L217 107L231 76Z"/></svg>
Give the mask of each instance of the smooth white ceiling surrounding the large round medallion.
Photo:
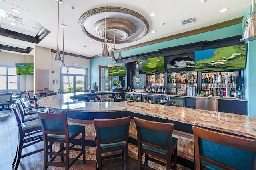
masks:
<svg viewBox="0 0 256 170"><path fill-rule="evenodd" d="M25 16L26 13L26 23L28 24L28 21L31 21L35 25L33 27L36 27L34 29L39 29L40 25L42 25L50 31L38 46L56 49L58 3L55 0L7 0L6 2L16 6L16 8L19 7L18 10L21 10L20 12L22 13L20 15ZM3 0L0 3L2 9ZM149 23L149 31L142 39L132 43L117 44L116 49L232 20L244 16L251 4L252 0L207 0L205 3L201 3L201 0L107 0L107 6L118 6L134 10L144 16ZM80 30L78 20L86 11L104 6L105 0L62 0L59 16L60 51L63 50L63 27L61 25L65 24L67 26L64 37L65 52L86 57L93 57L102 53L103 40L102 42L91 42L91 38ZM11 8L11 6L6 8ZM222 8L229 9L224 13L220 13ZM151 17L150 14L153 12L156 13L156 16ZM182 20L193 17L195 18L195 23L182 26ZM1 27L4 20L1 17ZM40 24L38 25L35 21ZM20 24L20 26L23 27L24 25ZM156 31L156 33L152 34L151 31ZM31 30L31 32L33 31ZM1 42L25 47L34 48L34 45L37 45L4 36L0 38ZM111 44L109 46L112 47ZM33 51L29 55L33 55Z"/></svg>

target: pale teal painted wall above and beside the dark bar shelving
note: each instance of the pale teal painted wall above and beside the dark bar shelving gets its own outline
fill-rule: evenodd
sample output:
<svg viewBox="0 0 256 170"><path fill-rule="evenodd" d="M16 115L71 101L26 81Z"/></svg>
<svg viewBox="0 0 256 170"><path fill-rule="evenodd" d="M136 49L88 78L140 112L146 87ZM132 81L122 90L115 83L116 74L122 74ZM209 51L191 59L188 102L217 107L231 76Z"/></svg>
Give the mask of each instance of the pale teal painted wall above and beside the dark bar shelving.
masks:
<svg viewBox="0 0 256 170"><path fill-rule="evenodd" d="M223 39L226 37L233 37L236 35L241 35L242 34L242 23L241 24L236 24L232 25L229 27L224 27L221 29L216 29L213 31L208 31L205 33L200 33L196 35L191 35L188 37L183 37L179 39L174 39L170 41L165 41L162 43L156 43L153 45L147 45L144 47L138 47L136 49L130 49L126 51L122 51L122 57L124 58L125 56L132 56L132 55L137 55L141 53L148 53L150 51L157 51L158 49L162 48L167 48L167 47L174 47L177 45L184 45L184 44L189 44L189 43L194 43L198 41L213 41L217 39ZM256 116L256 111L254 109L255 104L256 104L256 82L255 82L255 66L256 66L256 45L255 41L250 41L248 43L248 57L247 57L247 68L245 71L245 78L246 78L246 84L248 86L245 86L245 91L246 91L246 98L248 99L248 115L250 116ZM111 61L108 58L102 58L98 57L95 59L91 59L91 81L96 81L98 82L98 66L107 66L108 64L112 64L113 61ZM115 63L115 62L114 62ZM254 75L253 75L254 74ZM245 84L245 85L246 85ZM250 91L250 94L249 94Z"/></svg>

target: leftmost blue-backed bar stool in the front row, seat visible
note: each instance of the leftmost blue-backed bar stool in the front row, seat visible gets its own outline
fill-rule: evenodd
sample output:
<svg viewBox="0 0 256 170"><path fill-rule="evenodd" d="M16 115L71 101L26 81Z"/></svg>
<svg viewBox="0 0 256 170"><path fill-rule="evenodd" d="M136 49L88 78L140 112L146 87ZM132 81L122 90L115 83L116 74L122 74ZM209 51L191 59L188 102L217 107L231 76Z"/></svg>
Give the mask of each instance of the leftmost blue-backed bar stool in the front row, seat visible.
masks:
<svg viewBox="0 0 256 170"><path fill-rule="evenodd" d="M38 111L38 116L42 124L44 137L44 170L47 170L48 166L65 167L68 170L82 155L83 163L85 164L85 127L68 125L66 113L44 113ZM60 150L51 152L53 143L60 143ZM82 145L82 148L75 148L75 145ZM65 153L64 150L66 150ZM70 150L80 152L71 162L69 162ZM56 162L55 158L57 156L61 157L61 162Z"/></svg>

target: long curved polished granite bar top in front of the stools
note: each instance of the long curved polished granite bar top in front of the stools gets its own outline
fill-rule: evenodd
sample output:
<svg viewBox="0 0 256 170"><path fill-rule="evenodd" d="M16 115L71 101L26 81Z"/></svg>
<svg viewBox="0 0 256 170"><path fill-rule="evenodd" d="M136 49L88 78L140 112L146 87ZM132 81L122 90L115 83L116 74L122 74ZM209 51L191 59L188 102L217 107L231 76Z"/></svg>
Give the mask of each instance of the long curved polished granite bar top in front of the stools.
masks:
<svg viewBox="0 0 256 170"><path fill-rule="evenodd" d="M64 111L130 111L256 139L256 131L253 130L253 127L256 128L256 117L143 102L83 102L72 100L70 99L71 96L74 94L47 96L38 100L38 104L42 107Z"/></svg>

